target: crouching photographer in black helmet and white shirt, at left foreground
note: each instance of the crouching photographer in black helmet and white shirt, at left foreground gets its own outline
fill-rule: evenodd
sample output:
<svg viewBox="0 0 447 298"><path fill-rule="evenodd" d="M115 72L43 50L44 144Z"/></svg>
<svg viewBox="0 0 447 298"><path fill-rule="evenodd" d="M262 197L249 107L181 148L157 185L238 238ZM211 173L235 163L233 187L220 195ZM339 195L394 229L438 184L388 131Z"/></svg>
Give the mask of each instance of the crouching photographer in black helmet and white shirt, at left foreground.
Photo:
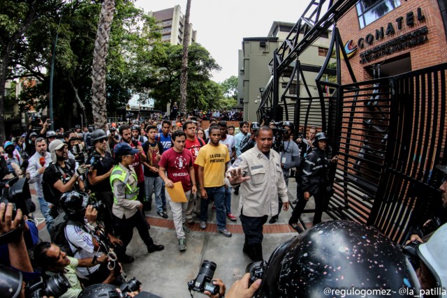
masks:
<svg viewBox="0 0 447 298"><path fill-rule="evenodd" d="M66 240L77 259L100 258L103 255L101 241L109 241L111 244L122 244L122 241L108 234L108 239L100 239L94 232L98 228L96 217L98 211L88 204L87 193L71 191L61 196L60 204L64 209L68 222L64 228ZM92 267L76 267L78 272L88 278L84 283L112 283L120 275L121 265L115 262L115 268L110 270L105 263L94 264Z"/></svg>

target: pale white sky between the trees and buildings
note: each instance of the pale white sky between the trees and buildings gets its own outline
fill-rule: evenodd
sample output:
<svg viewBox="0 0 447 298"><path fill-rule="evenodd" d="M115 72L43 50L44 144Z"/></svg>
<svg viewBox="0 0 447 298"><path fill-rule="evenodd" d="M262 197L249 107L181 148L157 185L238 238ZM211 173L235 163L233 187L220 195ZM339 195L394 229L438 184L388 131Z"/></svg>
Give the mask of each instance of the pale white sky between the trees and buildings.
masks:
<svg viewBox="0 0 447 298"><path fill-rule="evenodd" d="M145 12L179 5L186 11L186 0L137 0L135 6ZM212 80L222 82L237 76L237 51L242 38L267 36L274 21L298 22L309 5L308 0L191 0L189 22L203 45L221 66Z"/></svg>

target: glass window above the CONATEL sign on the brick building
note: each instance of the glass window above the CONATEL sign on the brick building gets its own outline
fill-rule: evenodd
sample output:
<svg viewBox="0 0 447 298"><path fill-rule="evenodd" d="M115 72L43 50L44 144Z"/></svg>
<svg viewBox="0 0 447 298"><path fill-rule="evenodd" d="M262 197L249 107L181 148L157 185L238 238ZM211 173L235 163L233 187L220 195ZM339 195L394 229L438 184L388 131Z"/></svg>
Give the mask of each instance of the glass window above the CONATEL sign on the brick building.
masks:
<svg viewBox="0 0 447 298"><path fill-rule="evenodd" d="M360 0L356 4L360 29L400 6L400 0Z"/></svg>

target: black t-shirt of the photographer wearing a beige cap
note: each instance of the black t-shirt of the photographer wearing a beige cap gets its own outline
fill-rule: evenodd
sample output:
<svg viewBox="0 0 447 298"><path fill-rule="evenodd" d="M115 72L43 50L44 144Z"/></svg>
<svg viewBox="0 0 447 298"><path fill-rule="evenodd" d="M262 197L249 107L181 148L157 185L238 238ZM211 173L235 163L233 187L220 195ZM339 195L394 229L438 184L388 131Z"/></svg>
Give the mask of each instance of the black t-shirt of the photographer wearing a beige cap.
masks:
<svg viewBox="0 0 447 298"><path fill-rule="evenodd" d="M62 193L54 188L54 184L57 180L61 180L63 184L66 184L74 174L75 161L71 158L68 158L68 161L65 161L65 167L60 167L59 164L52 163L45 169L45 172L43 172L43 181L45 181L45 183L52 189L55 200L59 200ZM74 184L73 189L80 191L78 181Z"/></svg>

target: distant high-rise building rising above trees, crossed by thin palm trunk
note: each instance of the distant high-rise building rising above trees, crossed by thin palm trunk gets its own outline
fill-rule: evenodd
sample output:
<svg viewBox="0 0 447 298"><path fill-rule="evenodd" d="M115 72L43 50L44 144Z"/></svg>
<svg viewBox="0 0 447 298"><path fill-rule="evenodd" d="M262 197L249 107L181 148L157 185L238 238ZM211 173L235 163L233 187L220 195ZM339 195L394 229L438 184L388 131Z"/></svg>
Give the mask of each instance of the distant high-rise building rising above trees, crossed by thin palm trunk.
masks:
<svg viewBox="0 0 447 298"><path fill-rule="evenodd" d="M161 40L172 45L183 45L184 15L179 5L158 11L149 11L149 16L155 17L161 27ZM197 31L189 23L189 44L196 42Z"/></svg>

